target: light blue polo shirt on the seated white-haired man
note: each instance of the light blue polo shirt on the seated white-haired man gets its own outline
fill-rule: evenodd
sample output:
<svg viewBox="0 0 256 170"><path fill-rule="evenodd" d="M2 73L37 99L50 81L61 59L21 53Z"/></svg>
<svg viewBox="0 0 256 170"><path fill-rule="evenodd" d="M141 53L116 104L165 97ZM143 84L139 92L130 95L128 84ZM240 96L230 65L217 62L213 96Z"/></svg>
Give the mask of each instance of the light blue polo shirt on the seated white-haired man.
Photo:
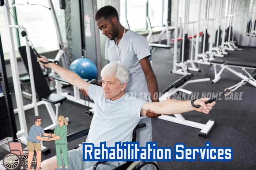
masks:
<svg viewBox="0 0 256 170"><path fill-rule="evenodd" d="M117 100L104 98L102 87L90 84L90 99L94 100L94 114L86 142L99 146L114 147L115 142L132 141L132 131L141 118L140 111L145 100L129 97L127 93Z"/></svg>

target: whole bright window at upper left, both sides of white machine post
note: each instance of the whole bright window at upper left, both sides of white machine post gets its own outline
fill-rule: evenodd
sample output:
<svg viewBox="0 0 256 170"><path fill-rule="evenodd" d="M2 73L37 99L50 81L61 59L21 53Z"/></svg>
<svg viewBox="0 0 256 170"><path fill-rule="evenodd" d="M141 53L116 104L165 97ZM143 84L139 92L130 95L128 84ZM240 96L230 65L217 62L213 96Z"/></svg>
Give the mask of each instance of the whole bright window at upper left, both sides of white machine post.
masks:
<svg viewBox="0 0 256 170"><path fill-rule="evenodd" d="M40 5L26 5L29 4L40 4ZM11 7L13 1L9 0L9 6ZM59 50L59 41L56 35L56 28L53 22L51 11L45 7L49 7L48 1L38 0L15 0L15 8L11 8L10 11L14 15L16 12L16 20L19 25L26 28L29 40L33 43L33 46L37 48L37 51L47 52ZM43 7L44 5L45 7ZM57 6L58 8L59 6ZM8 38L4 22L3 8L0 8L0 31L3 44L4 58L8 59L9 47ZM12 24L16 24L11 16ZM64 30L65 31L65 30ZM16 34L16 30L12 29L14 35L15 51L18 51L18 46L25 46L26 39L20 35L20 29Z"/></svg>

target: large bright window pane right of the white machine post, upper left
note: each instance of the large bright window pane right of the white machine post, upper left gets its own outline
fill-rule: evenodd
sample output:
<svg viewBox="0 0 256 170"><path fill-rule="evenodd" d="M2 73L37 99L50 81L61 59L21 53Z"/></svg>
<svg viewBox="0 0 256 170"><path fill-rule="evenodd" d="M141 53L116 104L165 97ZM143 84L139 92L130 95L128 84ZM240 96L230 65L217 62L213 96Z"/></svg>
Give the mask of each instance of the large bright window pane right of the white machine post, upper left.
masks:
<svg viewBox="0 0 256 170"><path fill-rule="evenodd" d="M16 4L22 4L23 0L15 0ZM49 7L47 1L30 0L29 4L41 4ZM35 48L42 47L45 50L58 49L58 40L51 11L41 5L17 5L17 21L27 29L29 40ZM20 30L19 30L20 32ZM26 39L19 33L20 46L26 45Z"/></svg>

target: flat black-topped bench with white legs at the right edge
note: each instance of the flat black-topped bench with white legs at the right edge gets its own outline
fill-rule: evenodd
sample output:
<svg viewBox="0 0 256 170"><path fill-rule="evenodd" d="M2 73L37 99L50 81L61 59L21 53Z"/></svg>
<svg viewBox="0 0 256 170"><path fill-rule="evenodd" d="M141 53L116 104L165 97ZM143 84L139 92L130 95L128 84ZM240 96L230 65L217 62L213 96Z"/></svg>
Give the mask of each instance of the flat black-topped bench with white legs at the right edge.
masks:
<svg viewBox="0 0 256 170"><path fill-rule="evenodd" d="M224 60L211 60L210 63L214 66L214 79L212 80L212 83L218 82L221 79L222 72L225 69L227 69L244 80L250 79L248 82L256 87L256 80L255 80L256 64L232 62L232 61L224 61ZM221 66L221 70L218 73L216 70L217 65ZM249 76L249 78L243 75L242 73L233 70L231 67L241 68ZM251 74L249 74L245 69L251 69L252 70Z"/></svg>

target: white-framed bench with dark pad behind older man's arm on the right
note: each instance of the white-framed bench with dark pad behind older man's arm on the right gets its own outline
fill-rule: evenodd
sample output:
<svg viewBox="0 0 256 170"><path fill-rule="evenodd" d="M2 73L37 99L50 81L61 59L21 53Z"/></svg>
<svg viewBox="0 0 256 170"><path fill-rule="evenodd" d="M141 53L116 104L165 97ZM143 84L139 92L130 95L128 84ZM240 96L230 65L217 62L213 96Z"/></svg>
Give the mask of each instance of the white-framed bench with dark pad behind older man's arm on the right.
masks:
<svg viewBox="0 0 256 170"><path fill-rule="evenodd" d="M186 86L188 83L210 81L210 78L197 79L197 80L190 80L190 79L191 79L191 75L187 74L187 75L182 76L176 82L172 83L165 90L163 90L164 95L162 95L159 98L159 101L161 102L163 100L170 99L170 96L172 96L177 91L185 92L189 95L192 95L191 91L185 90L185 89L183 89L183 87ZM213 119L209 119L206 124L202 124L202 123L197 123L197 122L186 120L181 114L174 114L174 116L175 117L162 114L161 116L158 117L158 119L163 119L163 120L167 120L169 122L179 123L179 124L183 124L186 126L201 129L201 131L198 134L199 138L205 138L215 123L215 120L213 120Z"/></svg>

